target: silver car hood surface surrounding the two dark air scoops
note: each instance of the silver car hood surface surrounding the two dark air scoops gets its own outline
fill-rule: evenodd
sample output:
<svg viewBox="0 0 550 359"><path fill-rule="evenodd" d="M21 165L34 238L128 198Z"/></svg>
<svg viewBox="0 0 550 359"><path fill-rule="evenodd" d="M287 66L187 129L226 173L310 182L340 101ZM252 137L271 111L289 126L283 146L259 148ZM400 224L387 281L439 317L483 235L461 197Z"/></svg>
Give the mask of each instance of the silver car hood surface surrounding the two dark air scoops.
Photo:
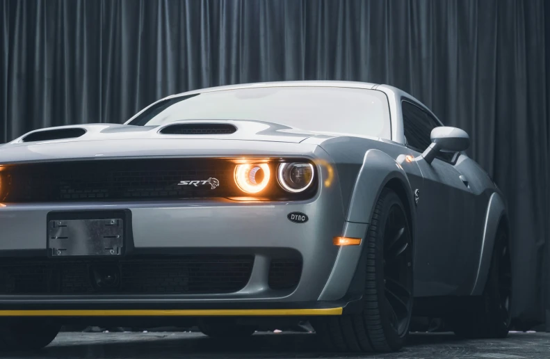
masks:
<svg viewBox="0 0 550 359"><path fill-rule="evenodd" d="M232 134L162 134L174 124L230 124ZM25 141L29 134L60 129L83 129L76 138ZM83 132L83 131L81 131ZM270 122L250 120L197 120L171 122L163 126L90 124L51 127L31 131L0 145L0 164L63 159L113 157L240 156L312 154L315 145L307 138L332 138Z"/></svg>

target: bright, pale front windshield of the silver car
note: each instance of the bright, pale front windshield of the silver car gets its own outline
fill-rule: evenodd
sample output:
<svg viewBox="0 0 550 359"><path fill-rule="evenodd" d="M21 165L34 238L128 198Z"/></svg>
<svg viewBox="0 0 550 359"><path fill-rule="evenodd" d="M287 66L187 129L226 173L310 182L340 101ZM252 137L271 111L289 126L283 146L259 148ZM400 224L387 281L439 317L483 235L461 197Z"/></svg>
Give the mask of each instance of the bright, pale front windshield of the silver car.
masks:
<svg viewBox="0 0 550 359"><path fill-rule="evenodd" d="M129 125L179 120L258 120L307 131L390 138L387 97L377 90L264 87L219 90L158 102Z"/></svg>

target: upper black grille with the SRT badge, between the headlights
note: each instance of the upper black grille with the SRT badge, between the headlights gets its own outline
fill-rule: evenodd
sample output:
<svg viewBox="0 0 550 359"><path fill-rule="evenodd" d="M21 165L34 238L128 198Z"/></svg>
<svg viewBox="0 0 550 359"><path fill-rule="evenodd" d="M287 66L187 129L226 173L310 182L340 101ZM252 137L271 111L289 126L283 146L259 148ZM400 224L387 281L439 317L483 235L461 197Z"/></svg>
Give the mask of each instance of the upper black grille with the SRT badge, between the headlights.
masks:
<svg viewBox="0 0 550 359"><path fill-rule="evenodd" d="M216 159L35 163L6 169L0 173L3 187L9 188L6 202L207 198L236 191L234 165Z"/></svg>

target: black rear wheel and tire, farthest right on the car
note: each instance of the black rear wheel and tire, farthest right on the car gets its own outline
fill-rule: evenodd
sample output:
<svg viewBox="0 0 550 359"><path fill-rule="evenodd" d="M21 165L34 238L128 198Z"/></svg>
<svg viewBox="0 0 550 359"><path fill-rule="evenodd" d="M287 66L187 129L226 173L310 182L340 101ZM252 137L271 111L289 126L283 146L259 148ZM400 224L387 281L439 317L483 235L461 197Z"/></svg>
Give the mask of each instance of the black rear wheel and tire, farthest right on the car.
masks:
<svg viewBox="0 0 550 359"><path fill-rule="evenodd" d="M512 266L507 232L496 234L485 289L474 306L451 317L456 335L468 339L503 338L508 335L512 315Z"/></svg>

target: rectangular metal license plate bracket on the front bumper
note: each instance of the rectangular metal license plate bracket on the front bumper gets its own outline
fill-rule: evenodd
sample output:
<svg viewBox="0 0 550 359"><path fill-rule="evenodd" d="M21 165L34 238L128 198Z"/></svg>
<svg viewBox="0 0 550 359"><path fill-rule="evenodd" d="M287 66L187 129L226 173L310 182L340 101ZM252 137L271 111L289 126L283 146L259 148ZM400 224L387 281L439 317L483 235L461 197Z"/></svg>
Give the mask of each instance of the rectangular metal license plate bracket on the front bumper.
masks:
<svg viewBox="0 0 550 359"><path fill-rule="evenodd" d="M48 253L51 257L120 256L124 224L124 218L50 219Z"/></svg>

